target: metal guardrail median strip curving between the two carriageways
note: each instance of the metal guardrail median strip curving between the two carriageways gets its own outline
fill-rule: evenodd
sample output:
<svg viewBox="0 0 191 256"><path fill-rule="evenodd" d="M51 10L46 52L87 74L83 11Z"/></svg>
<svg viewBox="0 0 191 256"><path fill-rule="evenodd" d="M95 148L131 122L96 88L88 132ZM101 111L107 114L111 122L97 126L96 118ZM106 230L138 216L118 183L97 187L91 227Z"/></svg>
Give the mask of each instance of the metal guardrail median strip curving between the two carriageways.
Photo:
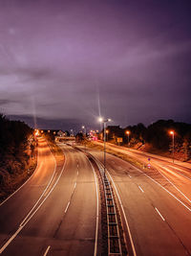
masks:
<svg viewBox="0 0 191 256"><path fill-rule="evenodd" d="M78 151L80 149L74 147ZM114 198L113 189L111 187L110 180L101 166L101 163L89 152L83 151L92 165L96 167L96 175L99 181L99 191L101 198L101 216L102 216L102 240L107 237L107 241L103 241L102 253L104 255L126 255L127 249L124 243L123 231L118 225L120 220L119 213L117 210L117 202ZM105 226L106 223L106 226ZM105 227L104 227L105 226ZM122 242L122 246L121 246ZM135 254L136 255L136 254Z"/></svg>

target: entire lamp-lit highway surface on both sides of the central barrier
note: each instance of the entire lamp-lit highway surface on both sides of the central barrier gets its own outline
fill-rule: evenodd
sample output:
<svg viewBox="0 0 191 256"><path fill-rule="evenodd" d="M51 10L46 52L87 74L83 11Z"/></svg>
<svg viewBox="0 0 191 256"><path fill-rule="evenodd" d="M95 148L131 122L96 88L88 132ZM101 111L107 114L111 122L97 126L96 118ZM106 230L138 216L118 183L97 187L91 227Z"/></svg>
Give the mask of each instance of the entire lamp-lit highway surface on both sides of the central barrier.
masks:
<svg viewBox="0 0 191 256"><path fill-rule="evenodd" d="M101 255L95 170L82 151L64 143L58 146L63 155L54 157L47 142L39 139L34 174L0 204L1 255ZM103 151L87 151L103 163ZM142 163L148 161L148 155L130 152ZM191 255L189 165L150 157L151 169L139 170L112 154L106 156L129 255Z"/></svg>

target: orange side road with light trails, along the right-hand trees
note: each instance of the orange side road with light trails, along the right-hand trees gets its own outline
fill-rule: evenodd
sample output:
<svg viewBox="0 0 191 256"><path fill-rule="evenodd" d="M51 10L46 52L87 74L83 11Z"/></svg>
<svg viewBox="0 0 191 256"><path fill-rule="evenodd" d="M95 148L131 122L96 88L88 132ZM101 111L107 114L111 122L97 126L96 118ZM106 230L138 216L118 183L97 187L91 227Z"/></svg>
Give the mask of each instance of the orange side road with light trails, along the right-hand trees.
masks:
<svg viewBox="0 0 191 256"><path fill-rule="evenodd" d="M102 143L96 144L103 146ZM130 157L138 159L144 166L144 173L154 178L162 186L168 186L168 190L180 198L185 204L191 203L191 164L175 160L174 163L171 158L151 154L143 151L136 151L127 149L125 147L118 147L116 145L107 143L107 148L113 151L121 152ZM148 161L148 158L150 161ZM151 168L147 168L147 164L151 164Z"/></svg>

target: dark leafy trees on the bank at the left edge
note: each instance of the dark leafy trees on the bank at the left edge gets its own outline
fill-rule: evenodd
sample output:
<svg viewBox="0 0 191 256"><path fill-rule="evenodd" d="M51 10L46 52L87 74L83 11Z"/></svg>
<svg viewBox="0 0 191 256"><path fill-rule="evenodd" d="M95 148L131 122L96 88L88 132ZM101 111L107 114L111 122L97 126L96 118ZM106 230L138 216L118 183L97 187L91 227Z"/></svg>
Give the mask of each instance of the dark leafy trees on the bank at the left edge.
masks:
<svg viewBox="0 0 191 256"><path fill-rule="evenodd" d="M33 149L32 128L0 114L0 196L26 177Z"/></svg>

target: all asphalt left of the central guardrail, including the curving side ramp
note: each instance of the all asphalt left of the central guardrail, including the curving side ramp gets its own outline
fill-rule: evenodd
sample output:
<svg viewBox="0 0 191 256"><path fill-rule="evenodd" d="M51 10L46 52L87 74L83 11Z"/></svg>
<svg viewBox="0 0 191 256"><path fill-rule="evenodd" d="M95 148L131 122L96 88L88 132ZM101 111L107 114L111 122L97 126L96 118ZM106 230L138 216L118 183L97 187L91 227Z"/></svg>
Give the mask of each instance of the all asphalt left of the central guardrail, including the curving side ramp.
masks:
<svg viewBox="0 0 191 256"><path fill-rule="evenodd" d="M32 177L0 205L1 255L99 255L96 175L86 156L39 139Z"/></svg>

